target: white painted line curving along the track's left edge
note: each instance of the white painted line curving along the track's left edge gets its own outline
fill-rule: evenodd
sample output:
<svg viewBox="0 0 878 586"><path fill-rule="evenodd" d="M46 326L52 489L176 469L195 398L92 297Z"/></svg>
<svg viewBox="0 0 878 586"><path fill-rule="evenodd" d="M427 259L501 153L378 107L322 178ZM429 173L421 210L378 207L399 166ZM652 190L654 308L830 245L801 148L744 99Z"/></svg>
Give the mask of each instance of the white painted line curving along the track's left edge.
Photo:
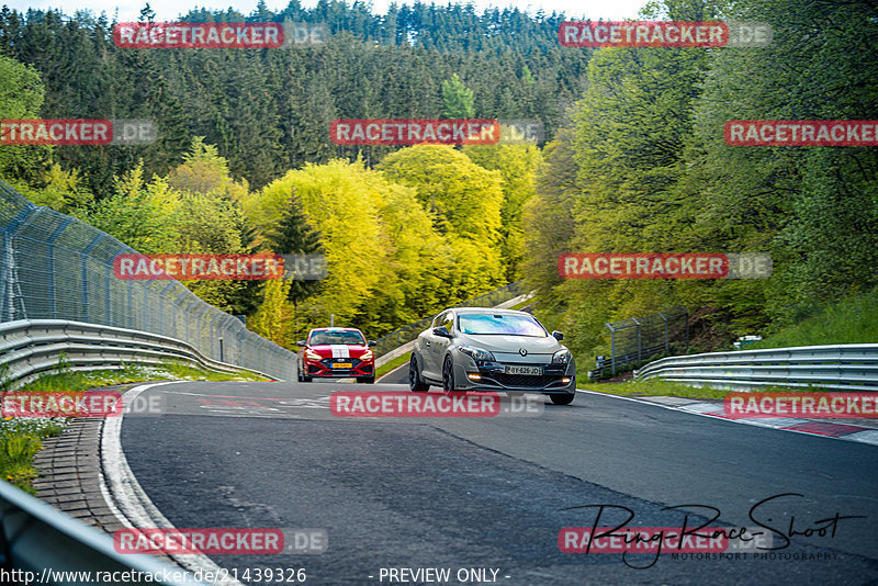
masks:
<svg viewBox="0 0 878 586"><path fill-rule="evenodd" d="M171 381L136 386L122 394L124 401L123 406L128 407L140 393L149 388L184 382L188 381ZM123 408L123 415L124 410ZM123 415L119 417L108 417L103 424L101 432L101 464L105 473L104 480L108 484L101 486L101 492L104 494L104 498L108 499L108 504L110 504L113 514L124 526L133 529L176 529L153 504L128 466L128 461L125 458L125 453L122 451ZM200 553L168 555L190 572L194 573L201 571L202 575L211 572L215 576L219 575L217 572L221 567L206 555ZM244 586L244 584L228 577L227 579L216 582L215 586Z"/></svg>

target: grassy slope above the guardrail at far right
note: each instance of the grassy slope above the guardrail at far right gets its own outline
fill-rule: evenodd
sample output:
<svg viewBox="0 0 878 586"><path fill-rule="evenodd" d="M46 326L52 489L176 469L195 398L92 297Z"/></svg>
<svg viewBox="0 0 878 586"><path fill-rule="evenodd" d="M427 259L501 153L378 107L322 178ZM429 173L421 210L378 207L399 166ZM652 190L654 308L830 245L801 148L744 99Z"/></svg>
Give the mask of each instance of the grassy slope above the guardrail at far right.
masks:
<svg viewBox="0 0 878 586"><path fill-rule="evenodd" d="M747 349L874 343L878 340L878 289L842 300L821 313L786 328Z"/></svg>

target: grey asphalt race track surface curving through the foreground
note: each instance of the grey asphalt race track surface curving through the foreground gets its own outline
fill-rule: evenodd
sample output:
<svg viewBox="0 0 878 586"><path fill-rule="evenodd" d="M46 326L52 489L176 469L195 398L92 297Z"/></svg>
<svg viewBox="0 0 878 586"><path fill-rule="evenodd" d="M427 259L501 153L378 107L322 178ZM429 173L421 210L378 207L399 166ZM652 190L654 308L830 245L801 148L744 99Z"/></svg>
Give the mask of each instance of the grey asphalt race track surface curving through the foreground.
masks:
<svg viewBox="0 0 878 586"><path fill-rule="evenodd" d="M211 556L238 575L304 567L316 585L878 584L876 446L583 392L536 414L340 418L329 410L334 391L407 387L155 386L144 394L161 396L164 415L126 415L122 447L178 528L328 533L322 554ZM754 527L753 510L777 549L738 559L562 552L559 532L595 525L595 505L607 506L599 526L609 527L626 520L621 507L631 527L697 527L713 517L708 507L719 515L710 527ZM688 508L662 510L677 505ZM447 568L450 578L391 568Z"/></svg>

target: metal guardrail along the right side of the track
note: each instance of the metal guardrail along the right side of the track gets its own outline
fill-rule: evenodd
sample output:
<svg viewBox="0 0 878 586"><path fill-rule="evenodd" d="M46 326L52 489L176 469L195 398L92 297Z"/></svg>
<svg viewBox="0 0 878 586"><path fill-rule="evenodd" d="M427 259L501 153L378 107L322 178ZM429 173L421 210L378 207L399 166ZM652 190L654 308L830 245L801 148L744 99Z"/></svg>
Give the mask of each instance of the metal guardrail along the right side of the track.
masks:
<svg viewBox="0 0 878 586"><path fill-rule="evenodd" d="M878 343L802 346L669 357L634 371L693 385L751 390L819 386L833 391L878 391Z"/></svg>

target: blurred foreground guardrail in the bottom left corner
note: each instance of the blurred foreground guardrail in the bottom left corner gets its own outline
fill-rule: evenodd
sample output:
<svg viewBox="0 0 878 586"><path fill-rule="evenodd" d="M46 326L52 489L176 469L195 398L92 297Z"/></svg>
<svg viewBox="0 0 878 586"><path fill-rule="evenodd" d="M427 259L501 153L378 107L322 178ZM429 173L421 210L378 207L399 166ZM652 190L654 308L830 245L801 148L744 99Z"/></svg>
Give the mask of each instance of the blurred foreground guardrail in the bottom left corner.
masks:
<svg viewBox="0 0 878 586"><path fill-rule="evenodd" d="M97 584L97 572L128 572L131 576L132 571L140 573L139 578L144 574L158 578L153 584L202 584L182 568L157 557L117 553L109 534L67 515L59 515L49 505L3 481L0 481L0 540L3 568L0 572L9 576L10 568L14 567L20 572L21 584L25 584L21 579L23 572L33 573L33 579L29 581L31 584L66 586ZM83 572L91 572L91 579L86 579ZM9 577L3 582L13 583Z"/></svg>

